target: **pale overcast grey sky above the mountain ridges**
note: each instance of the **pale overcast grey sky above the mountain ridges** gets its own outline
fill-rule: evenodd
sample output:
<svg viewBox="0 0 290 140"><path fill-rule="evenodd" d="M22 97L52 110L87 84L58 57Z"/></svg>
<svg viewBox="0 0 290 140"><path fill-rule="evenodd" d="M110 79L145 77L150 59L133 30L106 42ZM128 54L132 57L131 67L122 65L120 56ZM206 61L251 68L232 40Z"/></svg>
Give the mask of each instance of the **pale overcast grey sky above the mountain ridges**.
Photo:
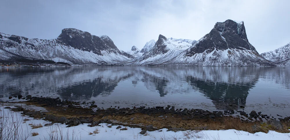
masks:
<svg viewBox="0 0 290 140"><path fill-rule="evenodd" d="M27 38L57 38L64 28L108 35L128 51L147 41L199 40L216 22L243 20L259 53L290 42L289 0L1 0L0 32Z"/></svg>

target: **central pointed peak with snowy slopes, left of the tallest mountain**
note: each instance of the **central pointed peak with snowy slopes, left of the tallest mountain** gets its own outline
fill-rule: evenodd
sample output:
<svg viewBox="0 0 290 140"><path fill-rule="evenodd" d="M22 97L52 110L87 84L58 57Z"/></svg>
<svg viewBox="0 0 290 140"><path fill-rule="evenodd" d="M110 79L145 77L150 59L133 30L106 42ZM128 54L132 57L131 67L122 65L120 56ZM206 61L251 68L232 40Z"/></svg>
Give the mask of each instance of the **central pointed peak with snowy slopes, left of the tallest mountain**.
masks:
<svg viewBox="0 0 290 140"><path fill-rule="evenodd" d="M158 65L182 53L191 46L193 40L166 38L159 35L155 45L141 57L129 60L129 65ZM146 43L147 44L147 43ZM146 45L145 45L146 46ZM145 47L144 47L145 48Z"/></svg>

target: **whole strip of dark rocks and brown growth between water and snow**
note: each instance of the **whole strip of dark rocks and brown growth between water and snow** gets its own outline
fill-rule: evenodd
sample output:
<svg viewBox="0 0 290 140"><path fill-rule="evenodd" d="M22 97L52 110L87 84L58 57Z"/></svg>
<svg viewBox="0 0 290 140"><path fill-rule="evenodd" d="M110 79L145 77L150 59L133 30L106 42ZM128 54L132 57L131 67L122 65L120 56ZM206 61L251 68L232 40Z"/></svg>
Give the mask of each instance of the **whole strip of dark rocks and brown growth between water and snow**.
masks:
<svg viewBox="0 0 290 140"><path fill-rule="evenodd" d="M10 98L12 98L10 96ZM276 118L270 117L261 112L235 111L204 111L202 109L175 109L174 106L167 107L133 107L119 108L110 107L108 109L97 109L95 102L71 102L59 98L26 97L18 96L19 99L26 99L21 103L43 107L46 112L27 110L21 106L12 108L12 111L20 112L23 115L35 119L43 119L53 123L65 124L66 127L88 124L88 127L95 127L106 123L111 126L125 126L131 128L141 128L147 131L158 131L168 129L168 131L186 130L242 130L249 133L277 131L289 133L290 117ZM5 105L5 102L2 102ZM90 104L90 107L81 107L81 104ZM234 113L240 115L232 116Z"/></svg>

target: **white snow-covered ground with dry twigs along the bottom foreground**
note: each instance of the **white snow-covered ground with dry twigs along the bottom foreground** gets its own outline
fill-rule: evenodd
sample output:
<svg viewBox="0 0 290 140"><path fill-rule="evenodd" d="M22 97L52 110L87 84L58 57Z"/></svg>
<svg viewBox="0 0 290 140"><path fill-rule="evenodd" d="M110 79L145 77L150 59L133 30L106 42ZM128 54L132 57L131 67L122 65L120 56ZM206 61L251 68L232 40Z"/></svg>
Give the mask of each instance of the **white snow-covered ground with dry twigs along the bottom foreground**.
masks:
<svg viewBox="0 0 290 140"><path fill-rule="evenodd" d="M13 108L13 107L11 107ZM65 124L55 123L51 126L44 126L45 124L49 124L49 121L45 120L38 120L33 119L32 117L22 116L20 112L13 112L9 109L3 109L1 107L1 126L3 128L2 134L14 129L10 129L13 126L9 123L18 124L18 135L22 134L22 136L28 136L28 140L35 140L35 139L47 139L50 140L54 137L53 140L80 140L80 139L89 139L89 140L125 140L125 139L161 139L161 140L169 140L169 139L190 139L190 140L233 140L233 139L240 139L240 140L286 140L290 139L290 133L279 133L276 131L269 131L268 133L257 132L255 134L251 134L249 132L238 131L238 130L203 130L203 131L166 131L167 129L162 129L162 132L159 131L152 131L148 132L145 135L139 134L141 132L141 128L129 128L128 130L120 130L125 128L116 129L117 126L112 126L111 128L107 127L110 124L99 124L97 127L88 127L88 124L80 124L78 126L73 126L67 128ZM12 121L13 120L13 121ZM26 121L24 121L26 120ZM5 124L5 122L8 122ZM3 125L5 124L5 125ZM29 125L30 124L30 125ZM32 129L31 124L41 124L43 127ZM8 126L8 127L5 127ZM16 130L17 130L16 129ZM95 133L94 133L95 131ZM31 133L37 132L39 135L32 136ZM89 133L91 132L91 135ZM14 134L14 132L13 132ZM7 135L7 134L6 134ZM22 139L23 139L22 137ZM3 137L5 139L5 137ZM11 135L10 138L12 139Z"/></svg>

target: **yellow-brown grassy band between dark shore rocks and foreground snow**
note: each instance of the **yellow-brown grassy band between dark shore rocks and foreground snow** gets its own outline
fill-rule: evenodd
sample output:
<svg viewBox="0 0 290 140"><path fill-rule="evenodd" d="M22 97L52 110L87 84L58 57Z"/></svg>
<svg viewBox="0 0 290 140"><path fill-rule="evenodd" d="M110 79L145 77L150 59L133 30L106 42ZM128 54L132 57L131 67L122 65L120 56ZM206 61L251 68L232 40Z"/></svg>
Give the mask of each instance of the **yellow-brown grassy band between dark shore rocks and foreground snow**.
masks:
<svg viewBox="0 0 290 140"><path fill-rule="evenodd" d="M28 103L28 104L34 104L37 106L36 103ZM90 109L80 109L78 108L75 110L75 108L66 108L66 111L64 112L63 108L61 107L47 107L45 106L49 112L47 114L52 114L57 117L66 117L66 118L72 118L72 117L79 117L78 113L84 113L84 112L90 112ZM158 117L160 115L163 115L164 117ZM189 119L186 116L179 116L179 115L172 115L172 114L143 114L143 113L135 113L132 115L106 115L103 113L100 113L99 115L91 115L90 113L84 113L82 116L88 117L92 119L93 121L99 121L103 120L104 116L106 116L106 119L109 120L116 120L120 123L123 123L124 126L130 126L130 124L141 124L143 126L147 126L152 124L154 127L157 127L157 129L161 128L168 128L169 126L174 128L184 128L186 130L203 130L204 128L206 130L223 130L223 129L236 129L236 130L244 130L250 133L254 133L257 131L260 132L268 132L269 130L274 130L274 128L271 128L271 126L263 126L260 122L244 122L241 121L238 118L229 118L229 117L222 117L222 118L215 118L215 121L213 120L207 120L207 119ZM167 116L167 117L165 117ZM174 116L174 117L172 117ZM126 124L127 123L127 124ZM254 125L258 126L258 129L253 130L252 126ZM287 127L290 127L289 123L282 123L284 125L283 130L276 130L278 132L289 132Z"/></svg>

